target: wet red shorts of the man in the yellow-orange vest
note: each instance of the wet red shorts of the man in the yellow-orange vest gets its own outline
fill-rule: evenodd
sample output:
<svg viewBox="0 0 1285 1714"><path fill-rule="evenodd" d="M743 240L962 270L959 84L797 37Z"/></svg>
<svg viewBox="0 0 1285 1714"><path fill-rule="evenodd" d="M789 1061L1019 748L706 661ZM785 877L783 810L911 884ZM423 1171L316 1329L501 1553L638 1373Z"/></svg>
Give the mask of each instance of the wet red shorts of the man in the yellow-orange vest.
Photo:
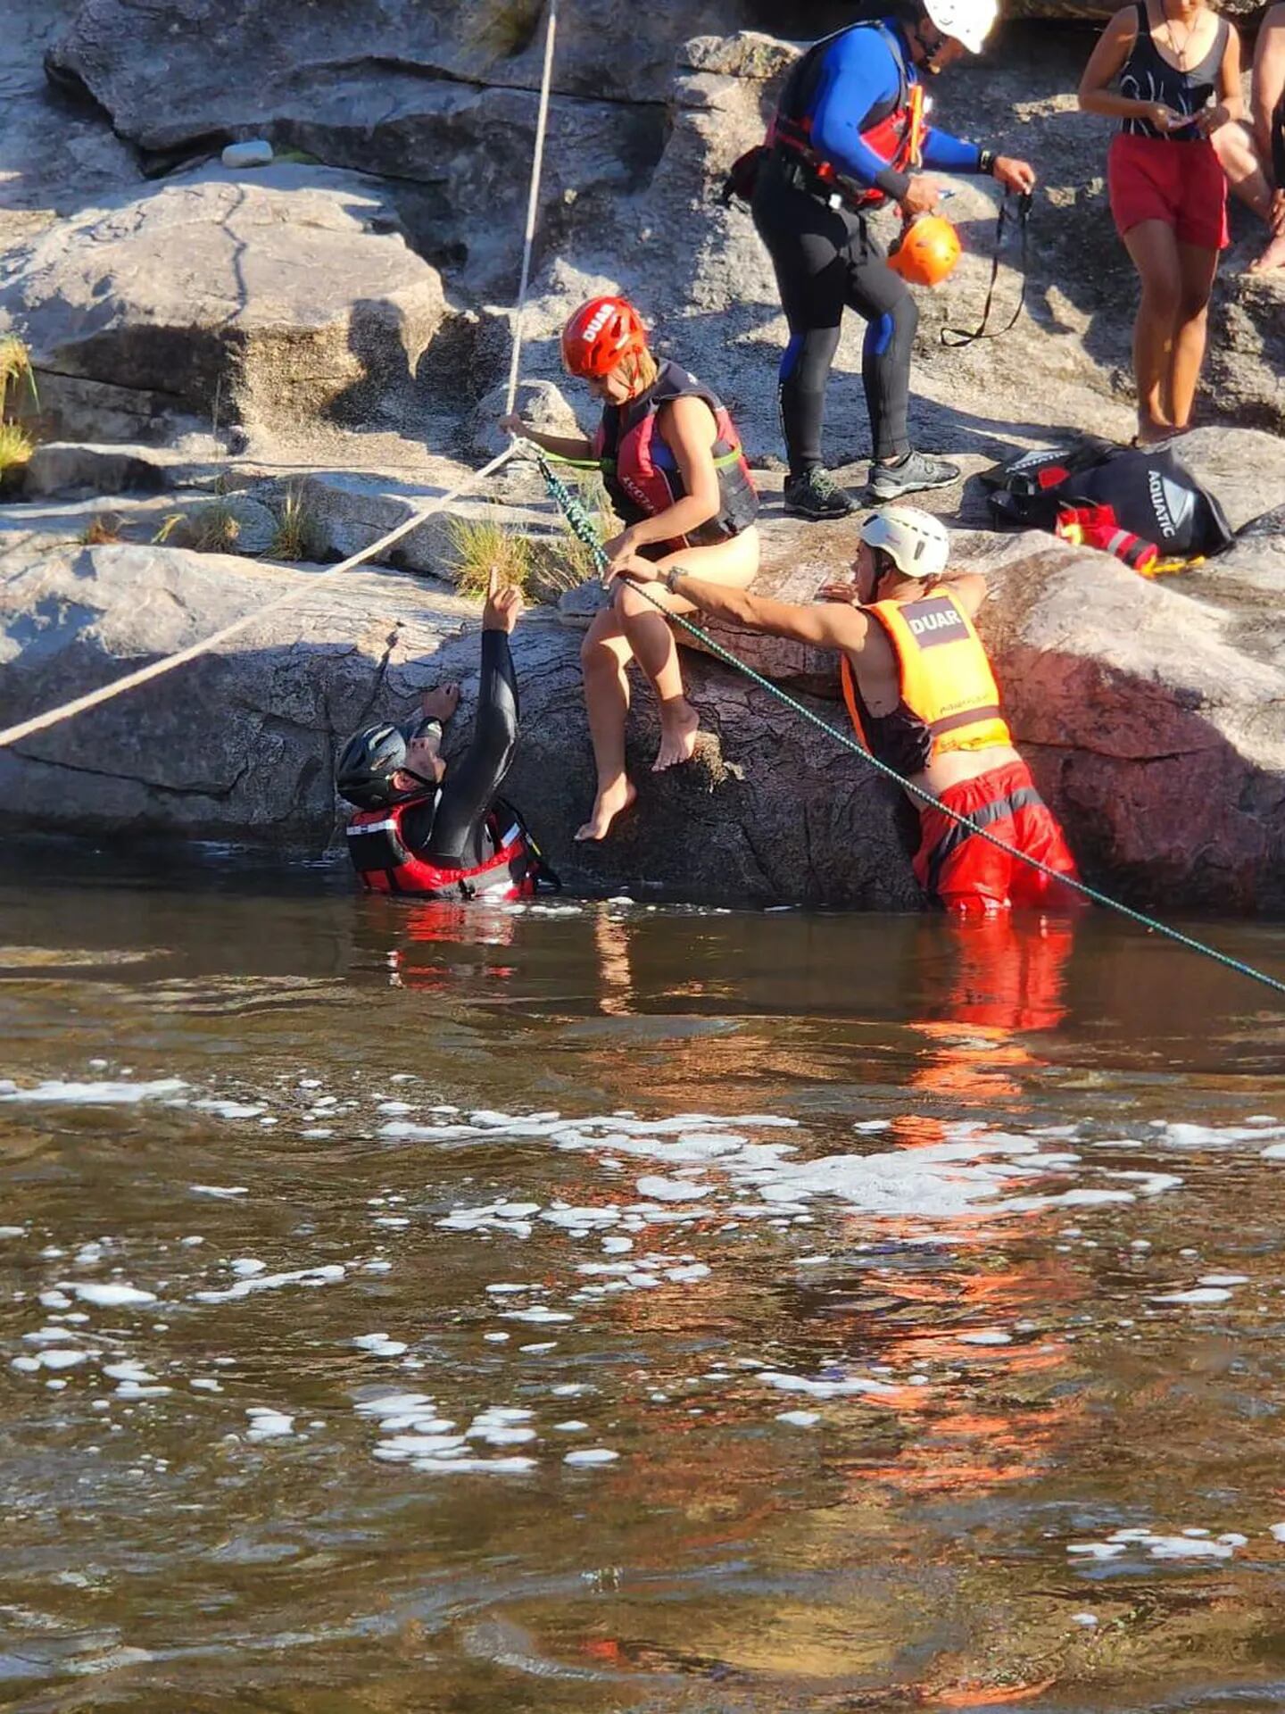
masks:
<svg viewBox="0 0 1285 1714"><path fill-rule="evenodd" d="M941 800L1002 840L1013 852L1025 852L1057 874L1079 879L1062 830L1035 790L1025 761L1009 761L975 780L961 780L942 792ZM920 831L915 878L947 910L1007 910L1011 905L1066 910L1076 902L1078 895L1069 888L959 826L939 809L920 809Z"/></svg>

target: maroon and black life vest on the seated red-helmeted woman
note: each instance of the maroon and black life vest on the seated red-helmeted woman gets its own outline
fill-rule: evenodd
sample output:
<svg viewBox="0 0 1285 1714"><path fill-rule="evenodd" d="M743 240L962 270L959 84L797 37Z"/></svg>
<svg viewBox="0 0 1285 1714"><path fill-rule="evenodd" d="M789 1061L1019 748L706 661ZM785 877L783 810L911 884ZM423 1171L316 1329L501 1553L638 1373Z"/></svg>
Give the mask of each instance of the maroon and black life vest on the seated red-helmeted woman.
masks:
<svg viewBox="0 0 1285 1714"><path fill-rule="evenodd" d="M677 536L666 547L709 547L714 542L726 542L749 530L759 516L759 495L740 435L725 405L677 363L661 365L653 386L636 399L603 408L603 420L593 437L593 456L601 468L603 485L612 506L627 524L654 518L685 499L687 488L678 459L656 430L658 411L673 399L704 399L713 411L718 516L685 536Z"/></svg>

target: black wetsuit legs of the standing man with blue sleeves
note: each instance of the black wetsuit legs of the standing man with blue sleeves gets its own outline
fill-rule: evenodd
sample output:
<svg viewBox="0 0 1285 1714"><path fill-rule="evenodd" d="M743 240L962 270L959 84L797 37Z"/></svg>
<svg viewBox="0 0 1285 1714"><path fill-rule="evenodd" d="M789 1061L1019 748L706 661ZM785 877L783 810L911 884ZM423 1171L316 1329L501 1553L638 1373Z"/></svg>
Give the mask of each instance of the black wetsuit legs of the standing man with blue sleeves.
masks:
<svg viewBox="0 0 1285 1714"><path fill-rule="evenodd" d="M790 322L790 345L781 360L781 428L790 475L822 463L826 382L845 309L869 322L862 382L874 456L901 458L910 451L910 357L918 322L905 281L888 266L860 214L831 209L797 189L774 158L759 173L754 225L773 259Z"/></svg>

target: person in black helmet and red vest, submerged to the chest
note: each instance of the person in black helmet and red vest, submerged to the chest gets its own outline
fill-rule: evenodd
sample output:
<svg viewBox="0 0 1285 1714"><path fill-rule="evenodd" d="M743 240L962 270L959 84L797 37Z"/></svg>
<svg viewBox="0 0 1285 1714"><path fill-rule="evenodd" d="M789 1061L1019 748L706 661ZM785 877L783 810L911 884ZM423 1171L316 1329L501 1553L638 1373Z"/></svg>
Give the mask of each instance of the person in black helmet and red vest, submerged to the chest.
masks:
<svg viewBox="0 0 1285 1714"><path fill-rule="evenodd" d="M374 891L523 898L541 884L557 886L521 818L497 797L517 751L509 638L521 612L521 591L500 588L492 571L478 713L461 761L447 770L440 754L442 727L459 706L457 684L425 692L403 725L363 727L343 747L334 783L358 811L348 850Z"/></svg>

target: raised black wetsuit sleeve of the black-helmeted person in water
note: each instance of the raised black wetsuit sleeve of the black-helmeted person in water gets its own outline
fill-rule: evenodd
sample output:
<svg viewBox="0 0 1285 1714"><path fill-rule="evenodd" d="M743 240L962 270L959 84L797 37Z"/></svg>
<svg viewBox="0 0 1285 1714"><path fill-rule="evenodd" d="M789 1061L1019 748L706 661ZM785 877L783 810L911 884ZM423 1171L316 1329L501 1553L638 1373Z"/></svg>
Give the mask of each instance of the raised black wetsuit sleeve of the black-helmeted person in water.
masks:
<svg viewBox="0 0 1285 1714"><path fill-rule="evenodd" d="M504 631L481 632L481 687L468 752L451 763L433 831L421 852L442 869L471 869L492 855L487 816L517 749L517 677Z"/></svg>

